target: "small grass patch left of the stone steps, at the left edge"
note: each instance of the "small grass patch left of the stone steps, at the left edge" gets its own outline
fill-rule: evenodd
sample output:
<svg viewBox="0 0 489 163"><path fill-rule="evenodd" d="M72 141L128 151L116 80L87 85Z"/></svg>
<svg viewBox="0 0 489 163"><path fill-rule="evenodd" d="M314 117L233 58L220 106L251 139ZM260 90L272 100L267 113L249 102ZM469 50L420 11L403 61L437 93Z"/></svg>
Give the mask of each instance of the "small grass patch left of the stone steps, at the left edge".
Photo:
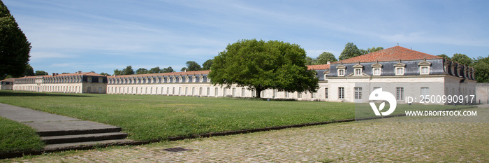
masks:
<svg viewBox="0 0 489 163"><path fill-rule="evenodd" d="M0 117L0 153L41 150L44 143L36 130L13 120Z"/></svg>

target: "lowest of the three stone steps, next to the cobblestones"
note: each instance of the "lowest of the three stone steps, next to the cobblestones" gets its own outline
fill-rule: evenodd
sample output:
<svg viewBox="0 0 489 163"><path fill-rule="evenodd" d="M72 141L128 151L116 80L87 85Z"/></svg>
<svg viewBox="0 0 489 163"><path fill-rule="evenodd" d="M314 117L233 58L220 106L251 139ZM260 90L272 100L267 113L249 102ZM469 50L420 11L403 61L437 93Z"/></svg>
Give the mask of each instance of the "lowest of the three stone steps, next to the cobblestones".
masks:
<svg viewBox="0 0 489 163"><path fill-rule="evenodd" d="M117 144L129 143L129 139L105 140L105 141L85 141L76 143L58 143L49 144L44 147L44 150L66 150L66 149L88 149L92 146L112 146Z"/></svg>

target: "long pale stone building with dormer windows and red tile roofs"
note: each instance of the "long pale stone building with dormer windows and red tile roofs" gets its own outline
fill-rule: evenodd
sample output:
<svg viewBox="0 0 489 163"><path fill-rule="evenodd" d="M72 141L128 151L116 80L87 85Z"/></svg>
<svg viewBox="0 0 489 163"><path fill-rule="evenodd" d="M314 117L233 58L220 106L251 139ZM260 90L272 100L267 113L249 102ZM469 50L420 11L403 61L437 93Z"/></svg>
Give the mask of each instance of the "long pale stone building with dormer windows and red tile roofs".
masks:
<svg viewBox="0 0 489 163"><path fill-rule="evenodd" d="M319 78L319 90L277 92L264 90L262 98L309 101L370 101L370 92L391 92L398 103L407 97L414 103L427 102L421 96L460 96L476 94L474 69L451 60L395 46L331 64L312 65ZM107 94L151 94L200 97L255 97L248 87L211 85L210 71L101 76L96 73L29 76L15 80L14 90ZM429 99L428 99L429 100ZM472 100L476 101L476 99ZM470 102L470 101L469 101ZM430 101L432 103L432 101ZM467 102L464 102L464 104ZM453 101L435 104L455 104Z"/></svg>

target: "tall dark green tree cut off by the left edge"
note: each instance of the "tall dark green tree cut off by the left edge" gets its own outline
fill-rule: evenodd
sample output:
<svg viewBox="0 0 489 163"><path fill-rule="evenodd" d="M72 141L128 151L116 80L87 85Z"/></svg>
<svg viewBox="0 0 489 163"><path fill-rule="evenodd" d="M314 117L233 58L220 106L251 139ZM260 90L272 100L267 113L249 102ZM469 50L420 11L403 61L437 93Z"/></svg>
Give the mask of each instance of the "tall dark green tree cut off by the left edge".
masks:
<svg viewBox="0 0 489 163"><path fill-rule="evenodd" d="M29 63L31 43L27 41L10 10L0 1L0 78L24 75Z"/></svg>

